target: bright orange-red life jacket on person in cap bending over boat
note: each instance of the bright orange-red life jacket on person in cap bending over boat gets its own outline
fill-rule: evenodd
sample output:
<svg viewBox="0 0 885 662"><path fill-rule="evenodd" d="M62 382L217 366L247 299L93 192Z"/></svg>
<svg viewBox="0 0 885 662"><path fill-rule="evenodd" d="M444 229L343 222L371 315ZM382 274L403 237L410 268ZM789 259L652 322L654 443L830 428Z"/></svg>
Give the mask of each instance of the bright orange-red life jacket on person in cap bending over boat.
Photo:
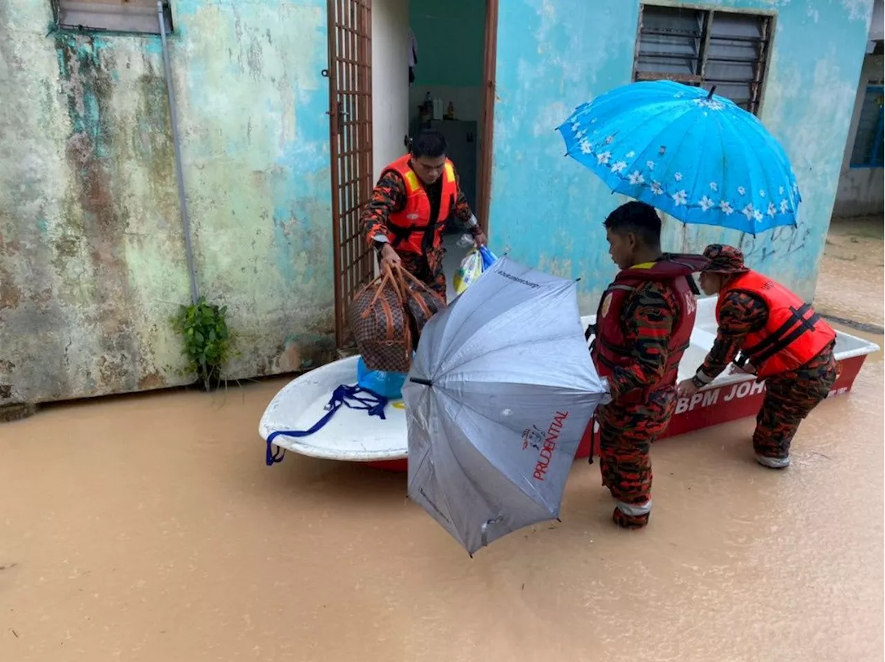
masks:
<svg viewBox="0 0 885 662"><path fill-rule="evenodd" d="M717 322L720 307L729 292L757 296L768 308L765 328L747 334L741 349L743 359L756 368L758 377L796 370L835 341L835 331L820 319L811 305L766 275L754 271L738 274L720 292L716 304Z"/></svg>

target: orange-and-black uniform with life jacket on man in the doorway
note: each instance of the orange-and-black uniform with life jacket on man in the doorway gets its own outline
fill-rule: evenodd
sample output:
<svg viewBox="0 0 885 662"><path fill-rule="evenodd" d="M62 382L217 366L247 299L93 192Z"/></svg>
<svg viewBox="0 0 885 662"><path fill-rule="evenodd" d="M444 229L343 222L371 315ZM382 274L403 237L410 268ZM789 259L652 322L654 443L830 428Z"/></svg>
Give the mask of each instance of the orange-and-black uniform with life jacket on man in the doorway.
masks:
<svg viewBox="0 0 885 662"><path fill-rule="evenodd" d="M420 181L410 162L404 156L384 169L360 225L369 245L380 251L388 242L410 273L444 297L443 232L450 218L470 223L473 213L451 161L433 184ZM480 233L477 225L470 229Z"/></svg>

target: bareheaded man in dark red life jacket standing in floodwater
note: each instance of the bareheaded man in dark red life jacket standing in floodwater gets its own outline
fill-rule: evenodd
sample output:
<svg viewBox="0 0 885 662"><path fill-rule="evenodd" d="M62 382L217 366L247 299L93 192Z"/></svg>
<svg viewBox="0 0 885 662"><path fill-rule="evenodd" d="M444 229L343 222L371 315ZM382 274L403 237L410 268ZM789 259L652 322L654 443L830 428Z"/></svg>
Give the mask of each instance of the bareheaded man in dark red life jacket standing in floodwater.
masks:
<svg viewBox="0 0 885 662"><path fill-rule="evenodd" d="M651 443L676 409L676 369L695 324L691 274L706 259L662 253L661 220L649 204L623 204L604 226L621 271L604 292L596 327L588 329L588 336L596 334L590 350L596 371L612 394L596 410L599 460L615 523L640 528L651 512Z"/></svg>

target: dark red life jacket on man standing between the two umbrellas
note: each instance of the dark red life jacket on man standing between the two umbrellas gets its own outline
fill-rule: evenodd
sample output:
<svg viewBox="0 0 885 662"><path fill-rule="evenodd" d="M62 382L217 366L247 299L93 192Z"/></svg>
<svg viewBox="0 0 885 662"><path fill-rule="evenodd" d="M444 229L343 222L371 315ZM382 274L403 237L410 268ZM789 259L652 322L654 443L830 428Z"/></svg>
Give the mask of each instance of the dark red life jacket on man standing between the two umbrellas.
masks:
<svg viewBox="0 0 885 662"><path fill-rule="evenodd" d="M618 273L614 282L603 294L596 312L596 325L588 329L596 333L590 350L596 372L610 377L616 367L627 367L635 363L632 339L627 339L624 304L635 289L648 281L666 283L673 290L679 308L673 324L673 332L667 343L667 357L664 374L659 381L649 384L642 391L624 394L618 399L621 403L643 402L651 393L666 389L676 383L679 362L691 342L691 329L695 326L697 312L696 285L691 274L707 265L707 258L700 255L667 254L657 262L636 265Z"/></svg>

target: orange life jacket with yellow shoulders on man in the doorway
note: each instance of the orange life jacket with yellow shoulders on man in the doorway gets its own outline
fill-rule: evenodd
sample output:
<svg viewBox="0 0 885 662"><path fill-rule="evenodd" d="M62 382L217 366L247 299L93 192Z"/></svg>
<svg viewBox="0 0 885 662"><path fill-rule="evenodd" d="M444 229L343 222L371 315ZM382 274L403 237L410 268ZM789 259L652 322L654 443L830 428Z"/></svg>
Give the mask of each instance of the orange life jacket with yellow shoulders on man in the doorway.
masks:
<svg viewBox="0 0 885 662"><path fill-rule="evenodd" d="M418 175L409 166L409 155L398 158L384 168L384 172L398 173L405 181L405 206L401 212L390 214L388 219L388 241L397 253L417 253L424 255L424 236L432 232L430 246L439 246L443 241L446 220L458 199L458 182L455 179L455 166L447 158L443 165L443 190L440 194L440 211L435 219L430 218L430 199L421 185Z"/></svg>

